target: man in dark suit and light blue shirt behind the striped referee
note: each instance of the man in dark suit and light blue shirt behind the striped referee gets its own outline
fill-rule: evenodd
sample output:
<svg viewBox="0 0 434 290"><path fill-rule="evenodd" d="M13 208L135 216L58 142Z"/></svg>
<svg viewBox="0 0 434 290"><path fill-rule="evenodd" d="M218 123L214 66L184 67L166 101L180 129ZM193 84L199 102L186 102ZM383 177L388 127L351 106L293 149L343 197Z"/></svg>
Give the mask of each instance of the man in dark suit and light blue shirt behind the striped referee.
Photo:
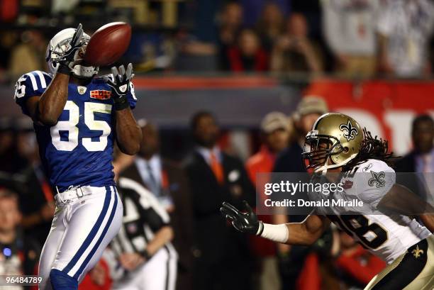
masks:
<svg viewBox="0 0 434 290"><path fill-rule="evenodd" d="M193 222L187 175L178 164L162 158L157 127L144 119L138 121L143 140L140 152L121 172L149 189L165 207L174 229L173 245L179 255L177 289L191 289Z"/></svg>

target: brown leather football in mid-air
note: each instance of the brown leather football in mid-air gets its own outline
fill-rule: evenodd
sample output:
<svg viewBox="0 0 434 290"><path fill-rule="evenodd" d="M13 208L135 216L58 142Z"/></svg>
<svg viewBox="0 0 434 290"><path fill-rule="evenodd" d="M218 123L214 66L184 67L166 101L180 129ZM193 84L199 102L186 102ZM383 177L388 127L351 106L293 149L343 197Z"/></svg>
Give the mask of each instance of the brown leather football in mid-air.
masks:
<svg viewBox="0 0 434 290"><path fill-rule="evenodd" d="M84 61L89 65L103 67L116 62L128 49L131 26L125 22L112 22L101 26L87 44Z"/></svg>

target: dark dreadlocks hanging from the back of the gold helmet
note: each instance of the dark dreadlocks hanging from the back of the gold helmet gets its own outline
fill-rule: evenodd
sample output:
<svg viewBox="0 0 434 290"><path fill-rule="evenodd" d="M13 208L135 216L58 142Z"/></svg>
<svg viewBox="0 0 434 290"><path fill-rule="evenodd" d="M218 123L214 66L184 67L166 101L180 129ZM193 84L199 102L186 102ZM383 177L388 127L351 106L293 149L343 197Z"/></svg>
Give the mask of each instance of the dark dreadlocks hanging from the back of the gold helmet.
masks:
<svg viewBox="0 0 434 290"><path fill-rule="evenodd" d="M343 166L343 171L348 171L368 159L382 160L390 167L394 167L394 161L398 157L394 156L394 152L388 152L389 143L387 140L378 139L377 136L372 137L371 132L366 130L366 128L363 128L363 135L365 138L362 141L359 153L357 153L353 160Z"/></svg>

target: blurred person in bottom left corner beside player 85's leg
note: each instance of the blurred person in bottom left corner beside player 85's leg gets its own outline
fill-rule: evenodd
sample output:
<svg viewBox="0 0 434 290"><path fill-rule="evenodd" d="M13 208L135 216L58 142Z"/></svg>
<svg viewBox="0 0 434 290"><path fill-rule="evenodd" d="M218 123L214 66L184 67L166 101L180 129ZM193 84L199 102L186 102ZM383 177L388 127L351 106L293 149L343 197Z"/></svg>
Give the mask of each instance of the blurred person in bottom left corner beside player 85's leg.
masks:
<svg viewBox="0 0 434 290"><path fill-rule="evenodd" d="M35 275L40 247L18 227L18 196L0 187L0 275ZM24 289L14 286L13 289Z"/></svg>

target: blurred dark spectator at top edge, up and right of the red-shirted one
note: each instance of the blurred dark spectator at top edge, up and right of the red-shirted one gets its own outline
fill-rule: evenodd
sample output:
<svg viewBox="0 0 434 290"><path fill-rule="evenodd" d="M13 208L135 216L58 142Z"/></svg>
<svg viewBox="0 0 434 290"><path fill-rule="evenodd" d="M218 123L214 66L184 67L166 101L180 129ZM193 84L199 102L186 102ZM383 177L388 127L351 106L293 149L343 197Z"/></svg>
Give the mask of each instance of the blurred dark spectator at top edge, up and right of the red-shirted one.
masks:
<svg viewBox="0 0 434 290"><path fill-rule="evenodd" d="M272 52L274 43L283 33L284 15L274 2L267 2L256 24L257 33L267 53Z"/></svg>

